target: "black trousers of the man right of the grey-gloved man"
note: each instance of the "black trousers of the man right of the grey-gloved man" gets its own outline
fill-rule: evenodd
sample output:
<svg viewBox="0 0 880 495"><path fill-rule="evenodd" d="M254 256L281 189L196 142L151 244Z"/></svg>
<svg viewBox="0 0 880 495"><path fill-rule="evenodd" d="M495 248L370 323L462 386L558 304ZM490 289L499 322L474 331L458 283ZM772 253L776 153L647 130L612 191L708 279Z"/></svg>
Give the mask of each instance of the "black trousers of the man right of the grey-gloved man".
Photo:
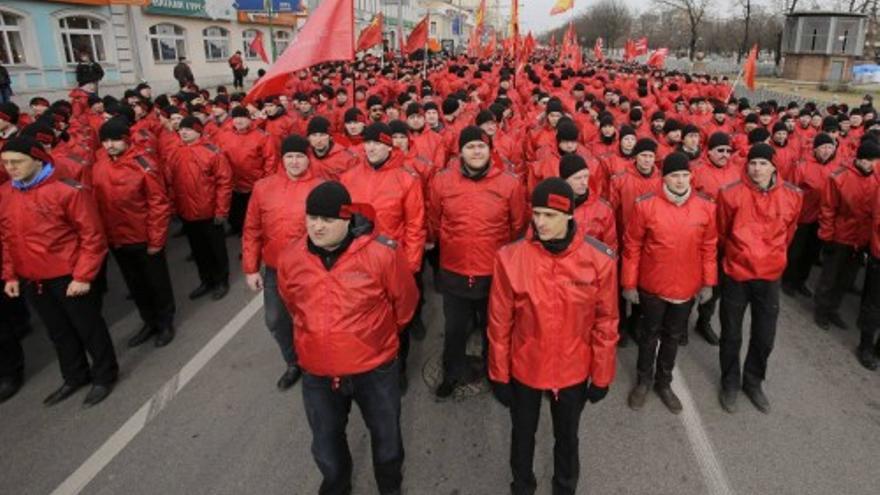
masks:
<svg viewBox="0 0 880 495"><path fill-rule="evenodd" d="M735 390L740 385L760 385L767 376L767 360L776 340L779 316L779 281L738 282L724 275L721 279L721 386ZM751 307L752 329L744 367L740 365L743 316Z"/></svg>

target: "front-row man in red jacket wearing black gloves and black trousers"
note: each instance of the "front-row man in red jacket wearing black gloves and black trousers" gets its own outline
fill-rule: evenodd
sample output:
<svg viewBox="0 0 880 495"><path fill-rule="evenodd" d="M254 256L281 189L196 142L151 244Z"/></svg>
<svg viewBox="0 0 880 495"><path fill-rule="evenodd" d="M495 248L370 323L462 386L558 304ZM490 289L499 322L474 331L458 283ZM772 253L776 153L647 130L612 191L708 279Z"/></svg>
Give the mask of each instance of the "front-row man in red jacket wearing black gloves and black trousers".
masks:
<svg viewBox="0 0 880 495"><path fill-rule="evenodd" d="M560 178L532 194L534 235L495 257L489 304L489 378L510 407L511 493L535 493L535 432L552 392L553 493L577 492L584 404L608 393L617 343L614 251L574 222L574 192Z"/></svg>

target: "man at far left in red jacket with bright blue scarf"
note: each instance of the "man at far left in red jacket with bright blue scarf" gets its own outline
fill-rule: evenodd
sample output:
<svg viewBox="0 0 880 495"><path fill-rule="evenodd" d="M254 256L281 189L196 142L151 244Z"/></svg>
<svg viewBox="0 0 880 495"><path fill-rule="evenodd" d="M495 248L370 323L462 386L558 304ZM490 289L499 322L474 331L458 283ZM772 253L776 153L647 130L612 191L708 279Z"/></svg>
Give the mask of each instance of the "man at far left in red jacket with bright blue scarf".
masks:
<svg viewBox="0 0 880 495"><path fill-rule="evenodd" d="M24 295L40 315L64 379L43 404L91 382L84 404L93 406L110 395L119 373L101 296L91 290L107 255L95 202L78 182L53 175L51 157L31 137L7 141L0 159L11 178L0 187L4 292Z"/></svg>

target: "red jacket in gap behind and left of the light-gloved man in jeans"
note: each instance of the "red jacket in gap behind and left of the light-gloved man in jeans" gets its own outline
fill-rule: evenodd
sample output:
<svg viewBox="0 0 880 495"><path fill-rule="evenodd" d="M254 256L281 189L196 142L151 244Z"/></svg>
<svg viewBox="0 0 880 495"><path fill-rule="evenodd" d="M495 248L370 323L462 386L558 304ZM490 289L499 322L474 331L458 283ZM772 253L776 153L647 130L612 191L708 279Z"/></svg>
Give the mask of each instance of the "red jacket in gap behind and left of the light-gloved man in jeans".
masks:
<svg viewBox="0 0 880 495"><path fill-rule="evenodd" d="M234 128L220 132L214 143L223 150L232 167L232 189L250 192L254 183L278 171L278 150L272 137L251 127L244 132Z"/></svg>

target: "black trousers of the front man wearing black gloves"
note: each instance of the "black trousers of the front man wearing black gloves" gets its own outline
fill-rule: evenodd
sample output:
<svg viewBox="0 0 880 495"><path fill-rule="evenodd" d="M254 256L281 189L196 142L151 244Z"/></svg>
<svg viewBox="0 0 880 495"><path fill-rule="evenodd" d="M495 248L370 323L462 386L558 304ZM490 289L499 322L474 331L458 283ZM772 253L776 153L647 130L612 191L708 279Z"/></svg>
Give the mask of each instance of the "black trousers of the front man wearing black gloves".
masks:
<svg viewBox="0 0 880 495"><path fill-rule="evenodd" d="M535 432L541 417L541 398L544 391L511 380L510 402L510 469L513 495L531 495L538 483L533 470L535 458ZM578 451L578 428L581 412L586 403L587 383L559 390L550 399L550 415L553 418L553 494L574 495L580 477Z"/></svg>

